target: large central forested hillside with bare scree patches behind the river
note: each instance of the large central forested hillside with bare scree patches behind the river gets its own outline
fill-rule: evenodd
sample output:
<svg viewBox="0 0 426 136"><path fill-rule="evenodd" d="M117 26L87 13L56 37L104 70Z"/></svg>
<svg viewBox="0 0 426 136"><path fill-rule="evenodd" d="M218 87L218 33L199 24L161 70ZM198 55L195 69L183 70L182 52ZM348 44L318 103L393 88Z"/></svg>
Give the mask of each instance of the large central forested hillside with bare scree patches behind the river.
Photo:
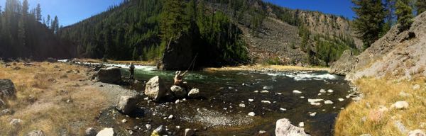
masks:
<svg viewBox="0 0 426 136"><path fill-rule="evenodd" d="M349 23L260 0L130 0L62 28L60 36L77 43L79 57L160 60L180 42L189 46L180 54L207 65L327 65L344 50L359 50Z"/></svg>

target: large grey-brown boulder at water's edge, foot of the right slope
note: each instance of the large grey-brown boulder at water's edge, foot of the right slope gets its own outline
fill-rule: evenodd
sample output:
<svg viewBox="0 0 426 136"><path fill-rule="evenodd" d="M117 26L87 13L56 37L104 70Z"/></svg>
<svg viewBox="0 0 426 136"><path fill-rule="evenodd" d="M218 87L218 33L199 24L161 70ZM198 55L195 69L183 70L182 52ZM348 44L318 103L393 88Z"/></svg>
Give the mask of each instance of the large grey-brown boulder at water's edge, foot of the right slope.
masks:
<svg viewBox="0 0 426 136"><path fill-rule="evenodd" d="M351 50L345 50L339 60L330 66L331 74L346 75L355 68L356 56Z"/></svg>

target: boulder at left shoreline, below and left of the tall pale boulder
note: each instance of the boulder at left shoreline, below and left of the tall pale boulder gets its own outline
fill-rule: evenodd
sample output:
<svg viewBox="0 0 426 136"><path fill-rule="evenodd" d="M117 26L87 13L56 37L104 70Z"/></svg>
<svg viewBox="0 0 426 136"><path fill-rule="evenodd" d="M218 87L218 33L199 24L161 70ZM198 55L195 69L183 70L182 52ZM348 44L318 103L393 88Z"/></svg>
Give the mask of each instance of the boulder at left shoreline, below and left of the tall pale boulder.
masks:
<svg viewBox="0 0 426 136"><path fill-rule="evenodd" d="M121 96L116 109L123 114L129 115L136 108L136 104L139 102L138 96Z"/></svg>

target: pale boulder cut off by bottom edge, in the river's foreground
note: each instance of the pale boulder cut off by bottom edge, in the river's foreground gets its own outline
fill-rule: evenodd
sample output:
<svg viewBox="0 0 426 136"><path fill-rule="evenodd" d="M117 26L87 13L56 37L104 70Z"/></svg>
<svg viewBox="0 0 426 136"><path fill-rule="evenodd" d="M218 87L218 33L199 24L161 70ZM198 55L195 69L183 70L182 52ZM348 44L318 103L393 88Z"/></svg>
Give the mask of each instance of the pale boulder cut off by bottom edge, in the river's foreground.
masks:
<svg viewBox="0 0 426 136"><path fill-rule="evenodd" d="M310 136L305 133L305 129L291 124L287 118L277 120L275 127L276 136Z"/></svg>

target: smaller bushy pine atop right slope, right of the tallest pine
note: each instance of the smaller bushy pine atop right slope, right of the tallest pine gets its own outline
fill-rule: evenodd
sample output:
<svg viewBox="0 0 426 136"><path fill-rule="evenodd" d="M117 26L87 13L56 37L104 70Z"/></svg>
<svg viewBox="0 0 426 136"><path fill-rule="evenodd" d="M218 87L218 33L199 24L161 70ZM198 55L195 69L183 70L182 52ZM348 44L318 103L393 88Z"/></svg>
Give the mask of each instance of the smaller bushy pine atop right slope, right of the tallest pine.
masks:
<svg viewBox="0 0 426 136"><path fill-rule="evenodd" d="M398 17L398 23L400 24L400 31L407 30L413 23L413 10L409 6L409 0L398 0L396 1L395 14Z"/></svg>

